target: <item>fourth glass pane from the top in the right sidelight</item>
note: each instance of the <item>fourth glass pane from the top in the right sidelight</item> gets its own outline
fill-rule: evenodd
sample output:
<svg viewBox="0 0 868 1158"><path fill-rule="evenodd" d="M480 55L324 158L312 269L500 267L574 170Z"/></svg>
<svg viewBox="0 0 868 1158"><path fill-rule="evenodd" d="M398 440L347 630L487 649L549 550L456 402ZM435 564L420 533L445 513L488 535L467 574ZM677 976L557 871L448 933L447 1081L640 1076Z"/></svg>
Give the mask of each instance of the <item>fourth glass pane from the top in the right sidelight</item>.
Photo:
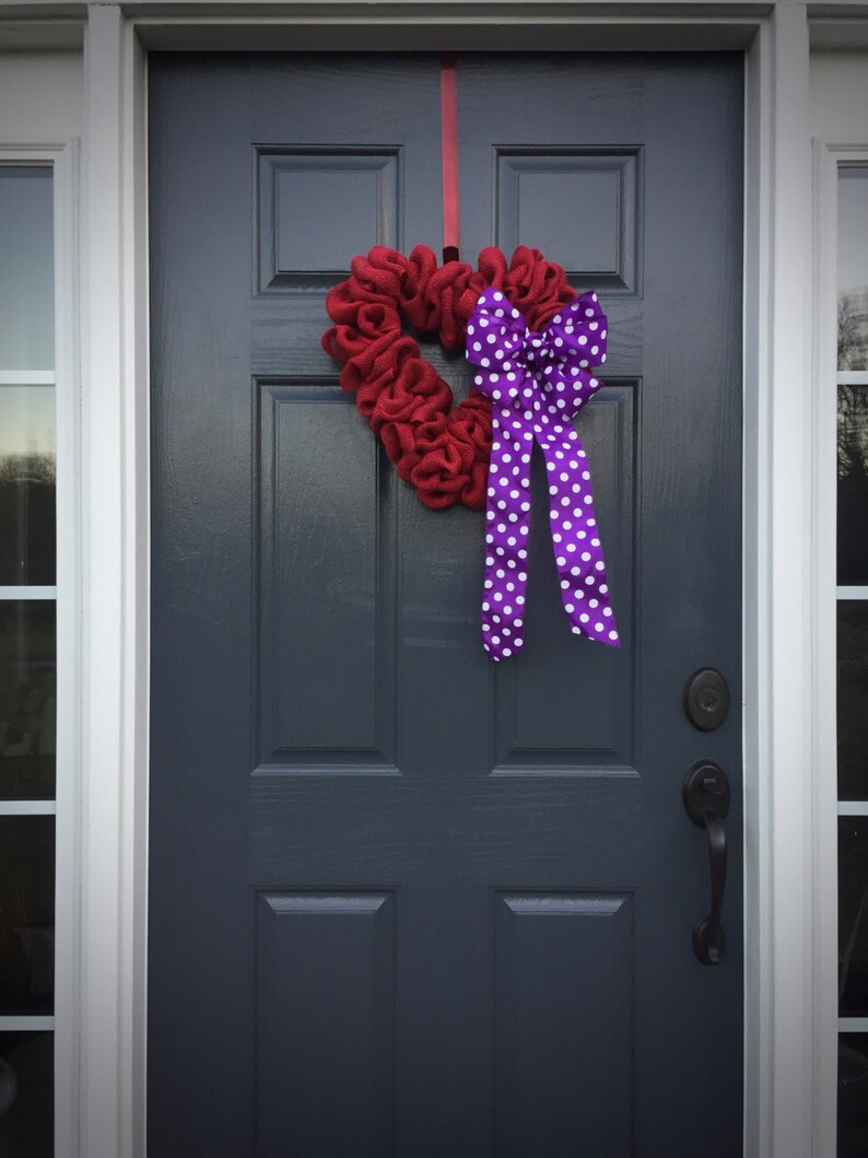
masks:
<svg viewBox="0 0 868 1158"><path fill-rule="evenodd" d="M838 818L838 1009L868 1017L868 816Z"/></svg>

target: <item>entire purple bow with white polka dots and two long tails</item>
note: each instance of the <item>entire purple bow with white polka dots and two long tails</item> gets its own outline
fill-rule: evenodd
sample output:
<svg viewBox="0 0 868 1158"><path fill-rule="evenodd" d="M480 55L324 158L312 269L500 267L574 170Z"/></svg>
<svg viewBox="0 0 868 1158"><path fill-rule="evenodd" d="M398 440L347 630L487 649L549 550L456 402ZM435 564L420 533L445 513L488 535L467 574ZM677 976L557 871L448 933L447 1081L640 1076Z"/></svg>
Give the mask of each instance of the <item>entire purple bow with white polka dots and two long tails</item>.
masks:
<svg viewBox="0 0 868 1158"><path fill-rule="evenodd" d="M542 334L499 290L488 288L468 323L475 382L492 400L485 536L483 644L492 659L523 646L530 530L530 457L539 444L549 479L554 559L572 630L618 647L588 460L573 418L601 387L589 368L605 361L605 314L584 293Z"/></svg>

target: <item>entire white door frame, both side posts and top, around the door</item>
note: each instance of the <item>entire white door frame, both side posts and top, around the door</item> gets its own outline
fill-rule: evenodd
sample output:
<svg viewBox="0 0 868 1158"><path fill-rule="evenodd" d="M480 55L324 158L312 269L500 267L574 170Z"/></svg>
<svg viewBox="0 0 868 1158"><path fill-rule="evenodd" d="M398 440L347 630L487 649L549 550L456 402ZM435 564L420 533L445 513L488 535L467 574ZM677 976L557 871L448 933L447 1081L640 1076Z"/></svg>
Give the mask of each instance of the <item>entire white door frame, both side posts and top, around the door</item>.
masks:
<svg viewBox="0 0 868 1158"><path fill-rule="evenodd" d="M27 5L38 15L43 0ZM338 6L334 6L336 8ZM840 7L840 5L838 6ZM45 15L62 10L45 0ZM81 214L82 725L78 1123L58 1155L144 1158L148 775L145 45L746 47L745 1155L834 1152L836 945L815 863L809 27L803 3L348 0L88 7ZM14 9L17 15L21 2ZM0 8L1 10L1 8ZM812 8L812 12L816 9ZM167 12L171 13L167 15ZM263 13L269 13L263 15ZM856 15L862 13L853 6ZM81 8L69 5L69 16ZM676 14L677 13L677 14ZM352 31L347 27L352 24ZM348 45L347 45L348 46ZM734 383L735 386L735 383ZM822 809L821 809L822 812ZM827 873L825 874L827 877ZM824 882L825 881L825 882ZM831 958L830 958L831 954ZM833 989L832 989L833 1004ZM826 1024L829 1021L829 1024ZM711 1048L711 1047L709 1047ZM60 1134L60 1131L58 1131Z"/></svg>

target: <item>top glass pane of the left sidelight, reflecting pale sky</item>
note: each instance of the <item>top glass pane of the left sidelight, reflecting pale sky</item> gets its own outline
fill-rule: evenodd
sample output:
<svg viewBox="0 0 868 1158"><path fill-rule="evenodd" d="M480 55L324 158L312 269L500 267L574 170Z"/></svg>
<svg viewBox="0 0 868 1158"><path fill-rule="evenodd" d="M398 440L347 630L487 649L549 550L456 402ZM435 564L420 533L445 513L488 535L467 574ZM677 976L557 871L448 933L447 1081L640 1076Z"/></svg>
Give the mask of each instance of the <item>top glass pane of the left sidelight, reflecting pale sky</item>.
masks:
<svg viewBox="0 0 868 1158"><path fill-rule="evenodd" d="M0 371L54 366L49 166L0 166Z"/></svg>

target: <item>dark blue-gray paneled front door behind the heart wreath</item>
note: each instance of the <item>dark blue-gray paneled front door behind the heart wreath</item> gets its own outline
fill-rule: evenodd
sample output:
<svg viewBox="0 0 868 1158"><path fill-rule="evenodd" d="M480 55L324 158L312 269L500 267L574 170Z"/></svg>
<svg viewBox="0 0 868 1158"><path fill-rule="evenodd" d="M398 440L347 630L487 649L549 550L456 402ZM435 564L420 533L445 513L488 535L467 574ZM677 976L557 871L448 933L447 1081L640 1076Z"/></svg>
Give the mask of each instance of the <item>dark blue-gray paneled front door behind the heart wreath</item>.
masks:
<svg viewBox="0 0 868 1158"><path fill-rule="evenodd" d="M742 61L457 67L463 256L536 245L610 317L578 426L624 646L571 635L537 472L490 662L483 514L419 504L319 346L354 254L440 244L439 60L152 58L154 1158L741 1153Z"/></svg>

